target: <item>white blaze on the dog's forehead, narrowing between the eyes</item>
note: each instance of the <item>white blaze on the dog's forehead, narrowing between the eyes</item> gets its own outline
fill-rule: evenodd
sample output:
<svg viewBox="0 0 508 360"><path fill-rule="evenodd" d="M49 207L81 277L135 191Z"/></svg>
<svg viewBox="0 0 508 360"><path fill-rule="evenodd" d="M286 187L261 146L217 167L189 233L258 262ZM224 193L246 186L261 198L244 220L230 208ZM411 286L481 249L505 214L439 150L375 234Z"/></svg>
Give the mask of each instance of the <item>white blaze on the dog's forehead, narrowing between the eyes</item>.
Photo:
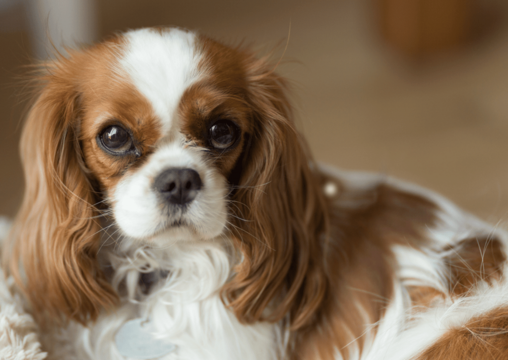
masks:
<svg viewBox="0 0 508 360"><path fill-rule="evenodd" d="M163 134L168 134L183 92L202 76L196 35L176 28L140 29L127 32L125 39L120 66L151 103Z"/></svg>

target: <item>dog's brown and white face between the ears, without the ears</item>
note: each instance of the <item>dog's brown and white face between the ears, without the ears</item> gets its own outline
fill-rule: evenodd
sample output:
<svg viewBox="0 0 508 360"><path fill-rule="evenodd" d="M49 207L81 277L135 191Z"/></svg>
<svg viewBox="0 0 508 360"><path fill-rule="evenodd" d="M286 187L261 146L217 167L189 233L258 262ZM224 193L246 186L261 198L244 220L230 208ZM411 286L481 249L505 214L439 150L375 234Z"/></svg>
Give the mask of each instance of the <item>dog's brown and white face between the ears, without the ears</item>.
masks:
<svg viewBox="0 0 508 360"><path fill-rule="evenodd" d="M121 43L113 59L93 59L101 74L82 74L85 165L123 234L216 237L252 136L245 59L178 29L134 31Z"/></svg>

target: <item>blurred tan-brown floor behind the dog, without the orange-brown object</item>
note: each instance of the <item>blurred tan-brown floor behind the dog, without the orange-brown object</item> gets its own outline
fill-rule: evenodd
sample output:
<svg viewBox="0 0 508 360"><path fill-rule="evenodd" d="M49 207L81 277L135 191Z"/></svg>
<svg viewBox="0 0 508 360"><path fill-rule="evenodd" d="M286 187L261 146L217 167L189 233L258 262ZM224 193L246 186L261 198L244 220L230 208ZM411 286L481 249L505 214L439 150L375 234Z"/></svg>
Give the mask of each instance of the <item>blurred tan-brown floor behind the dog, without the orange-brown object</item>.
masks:
<svg viewBox="0 0 508 360"><path fill-rule="evenodd" d="M387 47L373 0L99 2L102 35L172 24L281 58L315 157L434 189L494 223L508 219L508 27L425 60ZM2 19L0 18L0 21ZM289 40L288 40L289 38ZM286 48L287 45L287 48ZM21 199L21 66L29 39L0 32L0 214ZM284 52L285 50L285 52Z"/></svg>

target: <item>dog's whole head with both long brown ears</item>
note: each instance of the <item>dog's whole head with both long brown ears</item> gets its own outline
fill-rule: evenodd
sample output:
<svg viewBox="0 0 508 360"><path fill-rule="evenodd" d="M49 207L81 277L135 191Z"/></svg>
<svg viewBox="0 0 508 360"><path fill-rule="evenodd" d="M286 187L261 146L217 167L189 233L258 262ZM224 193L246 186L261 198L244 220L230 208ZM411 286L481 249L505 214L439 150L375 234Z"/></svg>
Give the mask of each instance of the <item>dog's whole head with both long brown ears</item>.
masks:
<svg viewBox="0 0 508 360"><path fill-rule="evenodd" d="M224 298L237 316L309 320L326 290L314 260L325 205L266 59L142 29L60 58L40 79L4 257L19 279L24 270L36 314L86 322L115 303L97 262L107 216L140 246L232 239L242 260Z"/></svg>

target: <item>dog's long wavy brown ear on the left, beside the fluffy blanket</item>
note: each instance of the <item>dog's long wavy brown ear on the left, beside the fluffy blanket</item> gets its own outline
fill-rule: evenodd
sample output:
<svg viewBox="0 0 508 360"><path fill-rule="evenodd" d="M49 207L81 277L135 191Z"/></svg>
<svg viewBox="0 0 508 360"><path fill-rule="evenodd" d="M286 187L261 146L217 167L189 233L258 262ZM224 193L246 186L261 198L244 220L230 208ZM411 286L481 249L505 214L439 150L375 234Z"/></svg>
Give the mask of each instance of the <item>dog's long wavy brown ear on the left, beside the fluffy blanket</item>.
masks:
<svg viewBox="0 0 508 360"><path fill-rule="evenodd" d="M84 323L117 296L96 259L97 200L80 166L79 94L68 61L62 59L43 77L46 84L23 129L26 188L4 266L40 320L67 316Z"/></svg>

